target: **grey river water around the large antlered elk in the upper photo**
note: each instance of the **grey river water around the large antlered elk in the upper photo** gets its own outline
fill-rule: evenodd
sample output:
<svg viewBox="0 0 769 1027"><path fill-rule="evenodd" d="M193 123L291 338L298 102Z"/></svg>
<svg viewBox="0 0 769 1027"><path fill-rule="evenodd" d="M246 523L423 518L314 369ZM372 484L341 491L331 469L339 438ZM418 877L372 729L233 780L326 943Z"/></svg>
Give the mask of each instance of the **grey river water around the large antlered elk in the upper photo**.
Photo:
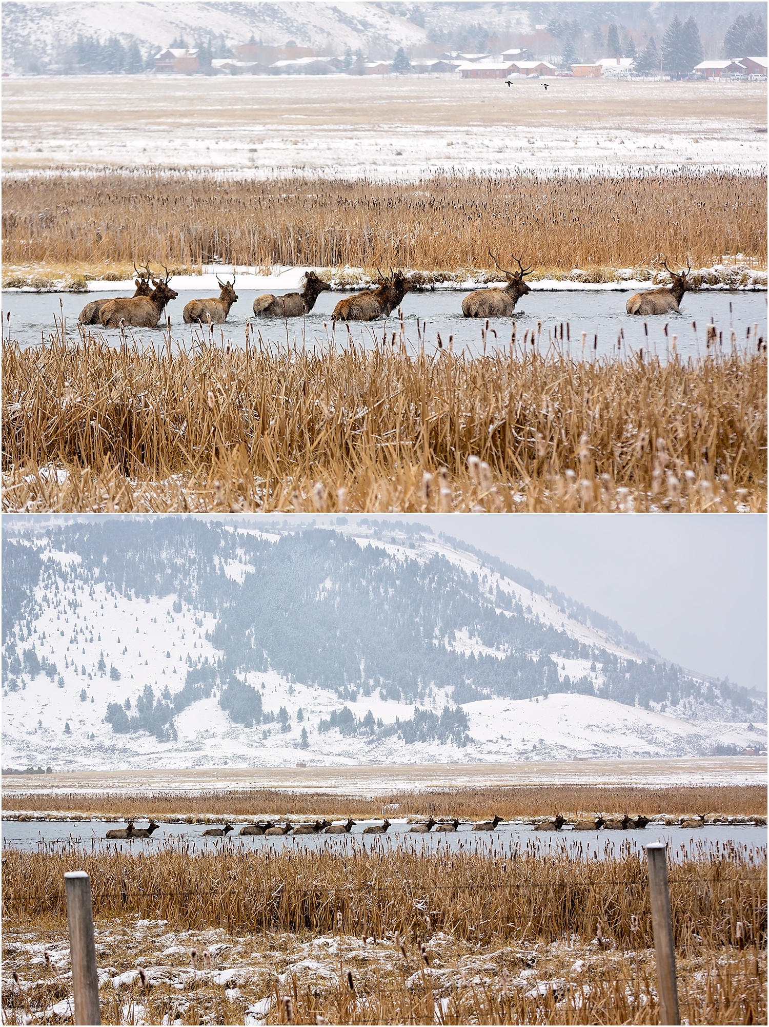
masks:
<svg viewBox="0 0 769 1027"><path fill-rule="evenodd" d="M323 348L332 339L337 346L346 346L349 345L351 336L356 343L367 348L381 345L382 340L392 345L393 333L396 334L397 343L400 341L401 325L397 311L387 321L382 319L368 325L351 324L349 336L345 325L338 325L335 333L331 325L331 312L341 298L339 293L322 293L311 314L288 321L254 317L252 306L257 295L260 293L254 290L243 289L238 292L238 303L231 309L227 322L214 328L214 342L243 346L246 319L250 322L252 340L258 342L260 339L264 345L278 349L302 345L307 348ZM274 295L282 295L282 292L275 290ZM479 355L484 351L484 345L487 352L507 350L514 326L519 353L525 338L528 340L527 348L531 350L533 338L538 352L544 354L557 334L558 346L577 359L590 359L594 355L628 356L643 349L644 354L656 353L664 360L671 352L674 337L677 351L682 357L696 358L706 352L705 329L710 322L720 333L721 352L730 352L732 344L740 349L755 350L756 336L762 336L764 340L767 338L766 292L687 293L682 303L682 313L643 318L625 312L624 306L631 295L628 292L532 290L519 301L520 309L516 310L512 318L497 317L491 320L489 331L485 333L485 322L462 316L461 303L467 295L467 292L453 291L408 294L401 310L409 351L415 351L422 344L429 351L434 350L439 335L446 348L451 340L456 353L463 350L466 354ZM199 328L184 322L185 304L194 296L190 291L179 292L178 298L166 308L165 314L171 319L171 336L177 344L190 344L196 337L208 337L207 329L201 332ZM115 293L6 292L2 302L4 338L10 338L25 346L39 344L55 333L56 321L60 324L64 317L68 335L73 341L77 341L77 318L85 303L114 298ZM755 326L758 326L757 333L754 333ZM103 331L111 342L116 345L120 343L118 329L93 327L91 331ZM134 329L126 337L145 345L161 346L164 339L167 339L165 316L159 329Z"/></svg>

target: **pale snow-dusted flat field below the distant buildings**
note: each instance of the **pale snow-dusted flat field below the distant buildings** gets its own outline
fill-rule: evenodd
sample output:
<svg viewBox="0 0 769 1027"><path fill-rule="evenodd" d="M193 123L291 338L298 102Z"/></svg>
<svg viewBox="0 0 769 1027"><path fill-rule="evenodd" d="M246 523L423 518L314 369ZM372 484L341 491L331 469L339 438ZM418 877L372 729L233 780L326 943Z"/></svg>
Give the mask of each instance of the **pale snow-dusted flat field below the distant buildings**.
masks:
<svg viewBox="0 0 769 1027"><path fill-rule="evenodd" d="M130 88L126 88L126 82ZM452 76L10 78L6 172L219 169L415 180L597 165L758 168L766 85Z"/></svg>

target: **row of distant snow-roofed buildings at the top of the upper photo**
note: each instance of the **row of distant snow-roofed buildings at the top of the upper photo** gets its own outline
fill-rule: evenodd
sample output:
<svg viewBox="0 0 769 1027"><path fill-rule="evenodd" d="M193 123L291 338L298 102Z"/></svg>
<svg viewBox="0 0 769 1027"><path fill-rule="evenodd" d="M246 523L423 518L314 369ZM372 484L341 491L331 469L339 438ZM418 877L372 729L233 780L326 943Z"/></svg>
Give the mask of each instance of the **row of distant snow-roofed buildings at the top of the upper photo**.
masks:
<svg viewBox="0 0 769 1027"><path fill-rule="evenodd" d="M528 50L512 49L500 54L446 52L438 58L415 58L411 62L351 61L350 56L298 56L274 61L257 60L249 46L236 46L234 56L211 59L199 48L169 47L155 55L155 71L160 74L194 75L328 75L346 72L351 75L452 74L461 78L511 79L528 76L571 76L598 78L626 77L635 74L633 58L602 58L593 64L572 64L559 68L550 61L540 61ZM404 59L405 60L405 59ZM702 61L692 69L702 78L766 77L765 56L733 58L727 61Z"/></svg>

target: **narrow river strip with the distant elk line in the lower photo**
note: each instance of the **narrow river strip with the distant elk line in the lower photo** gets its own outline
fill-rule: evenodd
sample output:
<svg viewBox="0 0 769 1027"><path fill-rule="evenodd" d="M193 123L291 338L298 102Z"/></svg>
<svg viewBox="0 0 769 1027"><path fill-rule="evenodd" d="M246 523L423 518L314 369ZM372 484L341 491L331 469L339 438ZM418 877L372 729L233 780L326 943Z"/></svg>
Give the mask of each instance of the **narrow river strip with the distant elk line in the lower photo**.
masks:
<svg viewBox="0 0 769 1027"><path fill-rule="evenodd" d="M298 821L292 819L292 823ZM311 822L308 822L311 823ZM109 849L115 846L132 852L157 851L164 845L173 847L185 846L190 850L200 850L215 846L234 846L237 849L245 847L254 851L264 848L273 850L284 849L329 849L350 850L352 846L370 848L383 845L388 847L408 846L417 850L435 851L443 846L450 849L464 848L469 851L483 851L495 854L527 848L539 850L549 846L554 851L562 849L574 859L593 858L610 859L618 855L624 843L631 851L642 853L643 847L651 842L665 842L673 859L682 854L696 855L699 850L715 850L737 846L743 851L756 852L763 848L766 851L766 828L735 825L707 825L703 828L662 827L649 824L642 831L578 831L569 829L562 831L534 831L531 825L509 823L500 824L496 831L477 832L471 825L460 824L454 832L431 832L430 834L413 834L408 832L408 824L396 822L385 835L364 835L363 829L371 822L359 822L348 835L278 835L278 836L247 836L239 837L242 825L226 839L204 838L203 832L211 827L205 824L161 824L155 831L151 841L134 839L133 841L106 841L105 835L112 828L124 827L124 824L107 823L105 821L3 821L3 847L12 846L26 851L51 851L62 846L88 849ZM136 827L146 826L137 823Z"/></svg>

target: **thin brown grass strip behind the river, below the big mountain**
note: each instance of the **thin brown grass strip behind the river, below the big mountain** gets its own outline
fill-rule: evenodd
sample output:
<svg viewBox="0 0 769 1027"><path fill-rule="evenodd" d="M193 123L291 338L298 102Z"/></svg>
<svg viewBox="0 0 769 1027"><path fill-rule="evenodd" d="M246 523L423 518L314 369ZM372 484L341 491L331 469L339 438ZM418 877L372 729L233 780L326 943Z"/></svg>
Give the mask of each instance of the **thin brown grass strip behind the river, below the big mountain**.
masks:
<svg viewBox="0 0 769 1027"><path fill-rule="evenodd" d="M12 788L8 779L6 788ZM765 786L714 785L671 788L527 785L516 788L458 788L388 792L363 797L329 792L285 791L269 788L212 792L34 792L6 793L5 812L31 815L68 812L83 816L115 819L191 815L203 819L259 819L268 815L353 816L361 820L380 815L386 808L399 816L453 817L479 821L498 813L503 820L552 816L557 811L629 810L653 816L681 816L692 812L729 816L766 814Z"/></svg>

